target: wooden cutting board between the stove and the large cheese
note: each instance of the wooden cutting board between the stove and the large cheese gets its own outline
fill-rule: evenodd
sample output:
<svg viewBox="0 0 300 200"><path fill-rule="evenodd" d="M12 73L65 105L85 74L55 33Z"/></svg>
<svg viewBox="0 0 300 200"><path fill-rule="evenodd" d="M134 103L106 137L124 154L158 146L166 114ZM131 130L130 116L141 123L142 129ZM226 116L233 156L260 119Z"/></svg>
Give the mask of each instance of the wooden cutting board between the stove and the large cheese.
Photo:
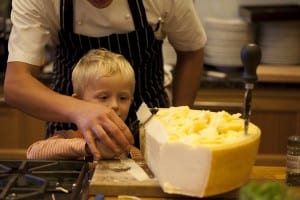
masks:
<svg viewBox="0 0 300 200"><path fill-rule="evenodd" d="M162 191L156 178L150 177L132 159L103 160L94 171L89 194L106 196L134 195L140 197L174 197Z"/></svg>

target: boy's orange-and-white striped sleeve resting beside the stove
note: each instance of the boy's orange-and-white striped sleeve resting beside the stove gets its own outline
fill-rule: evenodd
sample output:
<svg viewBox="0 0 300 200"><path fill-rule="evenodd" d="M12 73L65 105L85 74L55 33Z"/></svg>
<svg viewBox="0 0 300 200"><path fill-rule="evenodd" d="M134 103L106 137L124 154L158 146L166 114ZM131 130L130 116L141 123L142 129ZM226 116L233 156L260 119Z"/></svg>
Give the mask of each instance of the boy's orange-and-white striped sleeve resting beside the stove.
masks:
<svg viewBox="0 0 300 200"><path fill-rule="evenodd" d="M46 140L37 141L27 149L27 158L62 160L88 156L85 140L77 136L77 132L74 132L74 137L70 132L60 132Z"/></svg>

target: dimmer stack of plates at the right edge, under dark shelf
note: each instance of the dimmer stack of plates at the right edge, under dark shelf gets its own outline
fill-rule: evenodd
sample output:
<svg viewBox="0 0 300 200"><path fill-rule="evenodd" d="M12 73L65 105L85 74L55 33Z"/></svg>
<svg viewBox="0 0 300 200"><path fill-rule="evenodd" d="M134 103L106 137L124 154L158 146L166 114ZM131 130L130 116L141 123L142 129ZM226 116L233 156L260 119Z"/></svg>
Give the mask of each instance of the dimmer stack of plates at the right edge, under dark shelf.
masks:
<svg viewBox="0 0 300 200"><path fill-rule="evenodd" d="M262 63L300 63L300 21L261 23L259 36Z"/></svg>

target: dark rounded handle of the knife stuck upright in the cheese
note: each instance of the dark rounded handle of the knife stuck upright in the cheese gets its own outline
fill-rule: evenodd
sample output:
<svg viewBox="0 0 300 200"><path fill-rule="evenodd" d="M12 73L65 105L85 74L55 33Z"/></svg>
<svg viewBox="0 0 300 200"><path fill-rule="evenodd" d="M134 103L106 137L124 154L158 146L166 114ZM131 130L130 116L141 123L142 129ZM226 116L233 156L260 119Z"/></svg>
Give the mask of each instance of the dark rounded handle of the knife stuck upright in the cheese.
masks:
<svg viewBox="0 0 300 200"><path fill-rule="evenodd" d="M256 69L261 60L261 50L256 44L247 44L241 50L241 60L244 65L243 79L246 83L257 81Z"/></svg>

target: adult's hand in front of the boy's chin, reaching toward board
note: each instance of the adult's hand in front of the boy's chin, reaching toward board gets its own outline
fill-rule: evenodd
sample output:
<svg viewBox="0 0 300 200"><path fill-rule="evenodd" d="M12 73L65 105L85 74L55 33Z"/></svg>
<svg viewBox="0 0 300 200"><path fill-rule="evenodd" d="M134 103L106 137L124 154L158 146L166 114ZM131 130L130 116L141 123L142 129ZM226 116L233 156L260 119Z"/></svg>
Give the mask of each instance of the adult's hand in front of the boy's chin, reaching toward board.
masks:
<svg viewBox="0 0 300 200"><path fill-rule="evenodd" d="M101 158L95 140L100 140L117 155L129 152L134 143L132 134L114 110L99 104L82 102L75 112L73 121L84 135L94 159Z"/></svg>

